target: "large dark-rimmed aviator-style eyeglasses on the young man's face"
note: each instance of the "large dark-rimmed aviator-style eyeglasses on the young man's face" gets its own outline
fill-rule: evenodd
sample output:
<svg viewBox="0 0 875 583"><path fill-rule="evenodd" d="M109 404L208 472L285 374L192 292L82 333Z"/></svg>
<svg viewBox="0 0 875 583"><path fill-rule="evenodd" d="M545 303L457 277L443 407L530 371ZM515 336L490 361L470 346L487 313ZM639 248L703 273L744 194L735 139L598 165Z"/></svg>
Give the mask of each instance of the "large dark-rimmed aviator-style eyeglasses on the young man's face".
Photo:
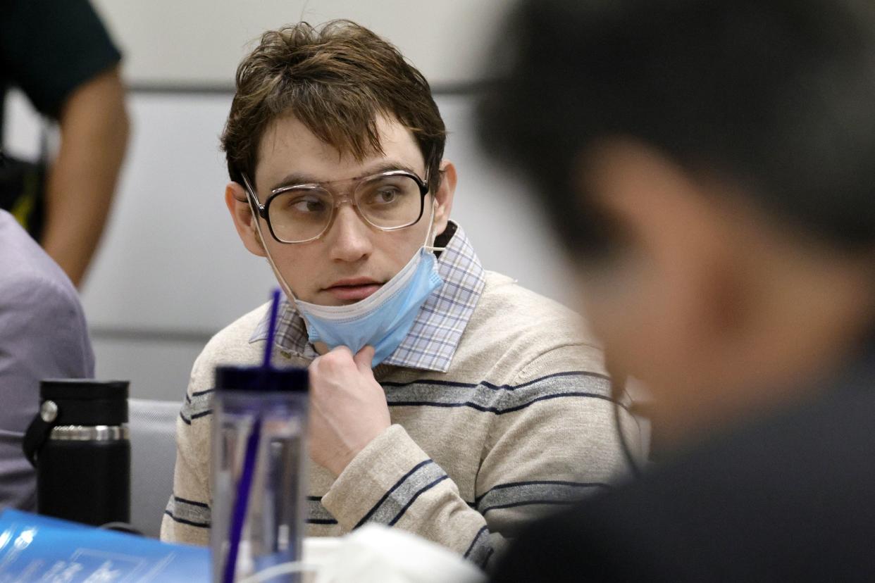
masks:
<svg viewBox="0 0 875 583"><path fill-rule="evenodd" d="M249 204L264 219L280 243L306 243L328 232L336 210L347 202L367 225L397 231L415 225L423 216L426 181L407 170L389 170L367 177L317 184L283 186L270 192L263 205L244 175ZM354 184L349 196L329 184Z"/></svg>

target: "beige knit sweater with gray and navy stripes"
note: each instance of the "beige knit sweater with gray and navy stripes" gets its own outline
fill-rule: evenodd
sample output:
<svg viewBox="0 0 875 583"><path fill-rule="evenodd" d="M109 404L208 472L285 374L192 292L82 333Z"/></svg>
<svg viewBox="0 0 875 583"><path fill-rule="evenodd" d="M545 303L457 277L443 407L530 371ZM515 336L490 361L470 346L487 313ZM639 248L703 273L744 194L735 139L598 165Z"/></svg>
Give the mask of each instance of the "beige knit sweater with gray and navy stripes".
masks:
<svg viewBox="0 0 875 583"><path fill-rule="evenodd" d="M209 540L211 385L218 364L256 364L267 305L221 330L194 364L177 421L173 493L161 537ZM381 364L392 426L334 479L311 463L308 534L394 525L486 566L521 526L608 487L625 470L602 355L577 316L486 272L445 372ZM307 360L275 350L286 364ZM633 448L638 427L625 410Z"/></svg>

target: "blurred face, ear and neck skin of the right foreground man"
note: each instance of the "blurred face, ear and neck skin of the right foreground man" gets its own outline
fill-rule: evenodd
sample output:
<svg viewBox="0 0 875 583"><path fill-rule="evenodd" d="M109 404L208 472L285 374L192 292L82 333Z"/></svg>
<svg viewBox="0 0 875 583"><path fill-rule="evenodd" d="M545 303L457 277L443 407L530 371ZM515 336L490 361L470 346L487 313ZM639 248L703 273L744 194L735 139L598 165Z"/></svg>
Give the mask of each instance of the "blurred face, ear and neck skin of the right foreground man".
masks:
<svg viewBox="0 0 875 583"><path fill-rule="evenodd" d="M809 386L852 337L842 327L871 317L857 259L800 237L739 184L629 139L582 159L581 200L622 245L579 270L581 306L612 371L648 385L663 440Z"/></svg>

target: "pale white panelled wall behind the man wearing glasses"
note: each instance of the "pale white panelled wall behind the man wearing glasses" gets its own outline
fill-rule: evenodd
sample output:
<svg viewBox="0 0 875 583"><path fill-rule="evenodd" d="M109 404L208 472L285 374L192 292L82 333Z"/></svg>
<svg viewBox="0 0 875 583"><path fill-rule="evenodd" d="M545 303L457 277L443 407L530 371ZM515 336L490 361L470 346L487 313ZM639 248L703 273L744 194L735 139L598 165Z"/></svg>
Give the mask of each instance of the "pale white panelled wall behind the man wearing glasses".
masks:
<svg viewBox="0 0 875 583"><path fill-rule="evenodd" d="M228 85L242 46L268 26L353 17L401 46L433 83L476 79L475 59L499 0L484 2L236 2L98 0L137 84ZM130 95L133 134L115 207L82 289L97 373L130 378L133 396L181 399L206 339L264 302L275 285L237 239L223 202L218 136L231 94ZM507 171L475 146L471 94L438 94L458 166L454 219L487 269L563 300L555 244ZM20 94L4 143L34 153L39 123Z"/></svg>

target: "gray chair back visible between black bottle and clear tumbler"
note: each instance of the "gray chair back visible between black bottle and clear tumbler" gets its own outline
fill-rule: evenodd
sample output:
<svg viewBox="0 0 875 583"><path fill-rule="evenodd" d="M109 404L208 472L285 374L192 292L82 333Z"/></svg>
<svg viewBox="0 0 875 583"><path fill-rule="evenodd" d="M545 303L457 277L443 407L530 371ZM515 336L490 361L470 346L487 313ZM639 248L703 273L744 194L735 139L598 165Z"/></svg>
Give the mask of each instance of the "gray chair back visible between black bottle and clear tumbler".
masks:
<svg viewBox="0 0 875 583"><path fill-rule="evenodd" d="M130 524L158 538L173 491L179 401L128 399L130 427Z"/></svg>

